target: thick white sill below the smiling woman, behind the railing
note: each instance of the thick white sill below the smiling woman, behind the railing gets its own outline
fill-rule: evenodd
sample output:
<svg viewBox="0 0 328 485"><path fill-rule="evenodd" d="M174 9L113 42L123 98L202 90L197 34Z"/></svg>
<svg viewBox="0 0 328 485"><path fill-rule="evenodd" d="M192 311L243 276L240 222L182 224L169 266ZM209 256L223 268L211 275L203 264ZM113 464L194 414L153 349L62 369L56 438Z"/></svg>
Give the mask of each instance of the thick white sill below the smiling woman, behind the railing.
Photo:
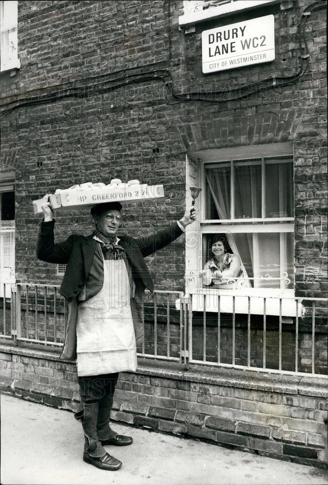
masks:
<svg viewBox="0 0 328 485"><path fill-rule="evenodd" d="M246 288L243 290L212 290L198 289L192 294L192 311L218 312L220 296L220 313L249 313L251 315L264 314L264 299L266 298L266 315L280 315L284 317L302 317L304 307L297 303L294 290ZM233 298L234 297L234 298ZM250 298L250 301L249 301ZM180 308L180 300L176 301L176 308Z"/></svg>

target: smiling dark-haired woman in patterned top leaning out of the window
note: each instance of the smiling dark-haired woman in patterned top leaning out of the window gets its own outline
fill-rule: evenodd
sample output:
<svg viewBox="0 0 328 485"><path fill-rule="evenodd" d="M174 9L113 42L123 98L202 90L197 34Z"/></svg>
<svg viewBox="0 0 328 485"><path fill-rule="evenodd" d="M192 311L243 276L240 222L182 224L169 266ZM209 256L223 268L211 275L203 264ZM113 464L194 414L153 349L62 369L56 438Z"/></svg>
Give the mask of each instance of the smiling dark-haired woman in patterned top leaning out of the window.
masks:
<svg viewBox="0 0 328 485"><path fill-rule="evenodd" d="M214 237L211 246L213 258L205 263L200 276L203 286L211 288L232 289L234 278L243 276L241 259L232 254L230 245L224 235Z"/></svg>

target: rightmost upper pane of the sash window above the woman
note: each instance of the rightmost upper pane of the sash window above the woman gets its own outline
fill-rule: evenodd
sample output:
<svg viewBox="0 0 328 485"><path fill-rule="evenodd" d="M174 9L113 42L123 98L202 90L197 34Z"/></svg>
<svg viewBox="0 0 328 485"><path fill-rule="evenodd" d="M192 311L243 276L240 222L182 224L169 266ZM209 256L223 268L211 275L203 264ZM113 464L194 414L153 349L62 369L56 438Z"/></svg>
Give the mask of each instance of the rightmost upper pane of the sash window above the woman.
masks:
<svg viewBox="0 0 328 485"><path fill-rule="evenodd" d="M293 217L293 163L266 163L266 217Z"/></svg>

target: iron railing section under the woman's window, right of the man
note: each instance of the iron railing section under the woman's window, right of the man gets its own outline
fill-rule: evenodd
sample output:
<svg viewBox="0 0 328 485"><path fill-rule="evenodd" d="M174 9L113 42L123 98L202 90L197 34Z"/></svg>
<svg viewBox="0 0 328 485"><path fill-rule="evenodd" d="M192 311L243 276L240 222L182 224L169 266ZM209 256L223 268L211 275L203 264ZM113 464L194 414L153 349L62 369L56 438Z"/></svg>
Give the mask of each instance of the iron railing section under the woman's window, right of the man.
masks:
<svg viewBox="0 0 328 485"><path fill-rule="evenodd" d="M208 292L195 293L183 300L188 305L188 363L328 377L327 298L227 296L226 292L212 294L209 305L207 297ZM222 312L223 306L230 312ZM259 306L262 312L256 315ZM294 316L285 318L283 309Z"/></svg>

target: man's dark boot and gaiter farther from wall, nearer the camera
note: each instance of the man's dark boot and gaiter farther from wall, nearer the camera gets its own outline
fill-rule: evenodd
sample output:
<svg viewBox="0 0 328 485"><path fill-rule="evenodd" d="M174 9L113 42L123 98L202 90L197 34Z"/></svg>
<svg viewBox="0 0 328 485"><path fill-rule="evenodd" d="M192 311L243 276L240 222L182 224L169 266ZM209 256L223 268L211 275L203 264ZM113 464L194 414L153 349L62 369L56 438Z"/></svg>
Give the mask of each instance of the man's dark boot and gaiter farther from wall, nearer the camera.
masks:
<svg viewBox="0 0 328 485"><path fill-rule="evenodd" d="M97 468L117 470L122 462L109 455L97 435L98 403L83 404L83 432L85 436L83 460Z"/></svg>

